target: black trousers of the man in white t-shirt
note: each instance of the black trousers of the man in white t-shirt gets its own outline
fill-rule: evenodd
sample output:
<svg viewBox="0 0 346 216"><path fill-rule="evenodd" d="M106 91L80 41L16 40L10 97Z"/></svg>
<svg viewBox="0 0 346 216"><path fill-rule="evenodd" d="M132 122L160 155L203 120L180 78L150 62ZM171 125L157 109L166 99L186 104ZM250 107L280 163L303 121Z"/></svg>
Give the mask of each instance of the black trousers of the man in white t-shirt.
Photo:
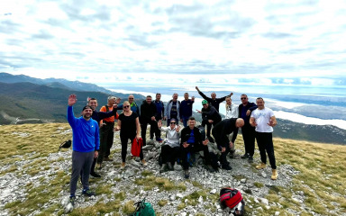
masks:
<svg viewBox="0 0 346 216"><path fill-rule="evenodd" d="M260 161L267 163L266 151L269 157L269 163L272 169L276 169L273 134L271 132L256 132L257 145L259 146Z"/></svg>

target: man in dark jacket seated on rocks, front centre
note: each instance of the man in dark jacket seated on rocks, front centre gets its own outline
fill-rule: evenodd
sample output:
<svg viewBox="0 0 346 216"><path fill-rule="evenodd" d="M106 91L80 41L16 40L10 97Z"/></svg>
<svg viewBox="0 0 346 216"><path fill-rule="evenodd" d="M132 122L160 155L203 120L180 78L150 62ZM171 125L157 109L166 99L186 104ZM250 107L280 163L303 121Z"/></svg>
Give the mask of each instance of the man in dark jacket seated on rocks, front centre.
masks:
<svg viewBox="0 0 346 216"><path fill-rule="evenodd" d="M189 172L188 172L188 161L187 161L187 155L188 153L198 152L202 151L204 152L205 157L205 165L206 168L210 172L214 172L214 168L211 166L211 160L209 157L209 150L208 150L208 139L202 140L202 134L198 130L198 128L195 127L196 120L195 117L190 117L188 119L188 127L185 127L183 130L181 130L181 142L180 142L180 149L181 149L181 156L183 159L183 169L184 169L184 175L185 178L189 178Z"/></svg>

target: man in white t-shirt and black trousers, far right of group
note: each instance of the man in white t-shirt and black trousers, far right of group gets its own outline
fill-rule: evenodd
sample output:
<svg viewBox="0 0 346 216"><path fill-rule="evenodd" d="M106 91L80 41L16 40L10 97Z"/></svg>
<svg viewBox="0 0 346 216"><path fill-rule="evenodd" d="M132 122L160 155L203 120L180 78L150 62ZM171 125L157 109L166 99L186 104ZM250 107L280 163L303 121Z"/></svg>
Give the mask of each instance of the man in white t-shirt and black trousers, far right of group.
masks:
<svg viewBox="0 0 346 216"><path fill-rule="evenodd" d="M274 112L264 107L264 100L261 97L256 99L258 108L251 112L250 125L256 127L256 140L259 146L259 154L261 163L256 166L257 169L266 167L267 156L272 168L272 180L278 179L277 165L275 162L274 145L273 145L273 127L277 125L277 119Z"/></svg>

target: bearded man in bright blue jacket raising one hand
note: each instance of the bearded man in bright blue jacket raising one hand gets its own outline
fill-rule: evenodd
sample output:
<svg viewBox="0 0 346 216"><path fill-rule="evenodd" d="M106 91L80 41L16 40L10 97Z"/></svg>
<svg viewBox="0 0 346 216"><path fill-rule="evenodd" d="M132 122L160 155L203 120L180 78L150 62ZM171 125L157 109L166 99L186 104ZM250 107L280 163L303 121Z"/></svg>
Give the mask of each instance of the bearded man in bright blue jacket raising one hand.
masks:
<svg viewBox="0 0 346 216"><path fill-rule="evenodd" d="M76 94L71 94L68 97L68 123L73 132L73 152L72 152L72 174L69 183L69 201L72 205L75 204L77 181L80 172L83 169L82 193L87 196L95 195L89 189L90 168L95 157L98 156L100 147L100 137L97 121L91 118L93 110L90 106L85 106L82 111L82 116L76 118L73 113L73 105L77 102Z"/></svg>

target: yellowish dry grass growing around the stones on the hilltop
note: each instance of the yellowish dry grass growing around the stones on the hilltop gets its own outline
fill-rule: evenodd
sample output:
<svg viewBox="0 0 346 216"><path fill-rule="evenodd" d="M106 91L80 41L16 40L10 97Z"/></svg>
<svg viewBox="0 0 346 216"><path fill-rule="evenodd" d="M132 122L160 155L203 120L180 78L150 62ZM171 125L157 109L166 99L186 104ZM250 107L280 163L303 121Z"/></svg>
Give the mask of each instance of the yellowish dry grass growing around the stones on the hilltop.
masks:
<svg viewBox="0 0 346 216"><path fill-rule="evenodd" d="M59 129L61 128L61 129ZM71 134L61 134L68 130L66 123L51 124L25 124L1 126L0 130L0 166L8 166L3 169L0 177L6 173L21 175L37 175L37 173L50 169L50 162L42 157L58 151L59 144L71 138ZM278 170L280 165L293 166L300 173L293 175L292 186L279 187L272 186L269 194L266 196L269 202L278 202L282 208L271 207L266 211L258 211L257 215L273 215L279 211L280 215L292 215L291 211L298 211L300 215L312 215L315 213L325 215L328 210L335 213L328 215L341 215L346 212L346 147L336 145L325 145L306 141L297 141L291 139L274 139L275 154L277 157ZM243 142L241 136L236 140L236 148L243 151ZM64 151L65 149L62 149ZM118 152L115 150L114 152ZM255 157L259 157L256 153ZM20 166L18 162L28 161ZM57 161L65 160L59 157ZM26 198L23 202L15 201L5 205L5 209L14 215L28 215L33 211L41 211L40 215L61 215L63 211L59 204L51 204L48 208L42 208L51 198L58 198L61 191L68 191L69 175L63 171L57 171L51 175L53 178L49 182L44 178L39 178L41 186L34 186L32 183L25 185L27 190ZM246 178L246 176L236 175L235 179ZM121 179L118 179L122 181ZM150 171L141 172L141 177L134 181L144 190L159 188L160 191L186 191L187 184L192 184L197 191L188 194L183 200L188 199L187 203L180 203L177 211L187 206L196 205L199 196L211 201L209 208L215 212L216 209L212 203L217 202L217 195L210 195L208 189L203 188L197 182L187 181L180 184L161 177L156 177ZM133 201L125 202L127 194L124 192L113 194L109 188L116 184L99 184L96 192L113 196L112 202L97 202L96 205L87 208L77 208L70 215L96 215L106 212L119 212L114 215L121 215L134 210ZM256 187L263 187L263 184L255 183ZM126 189L123 189L124 191ZM303 203L296 202L293 195L297 192L303 193L305 200ZM244 194L246 196L246 194ZM128 198L127 198L128 199ZM164 206L165 200L158 204ZM252 209L246 208L247 215L258 207L265 209L262 203L251 202ZM160 211L159 209L156 211ZM202 215L202 213L200 214Z"/></svg>

